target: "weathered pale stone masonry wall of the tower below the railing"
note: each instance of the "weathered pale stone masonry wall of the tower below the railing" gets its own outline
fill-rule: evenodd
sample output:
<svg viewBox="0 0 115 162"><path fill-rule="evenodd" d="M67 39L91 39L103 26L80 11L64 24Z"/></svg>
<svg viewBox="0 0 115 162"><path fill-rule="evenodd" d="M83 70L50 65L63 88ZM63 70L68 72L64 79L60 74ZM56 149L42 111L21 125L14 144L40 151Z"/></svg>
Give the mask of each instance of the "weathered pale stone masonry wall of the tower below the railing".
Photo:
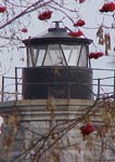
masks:
<svg viewBox="0 0 115 162"><path fill-rule="evenodd" d="M35 157L40 162L97 160L100 150L95 152L97 147L92 149L90 144L94 133L86 139L80 133L81 122L93 103L52 97L1 103L0 113L4 118L1 160L31 162ZM92 122L97 124L98 116Z"/></svg>

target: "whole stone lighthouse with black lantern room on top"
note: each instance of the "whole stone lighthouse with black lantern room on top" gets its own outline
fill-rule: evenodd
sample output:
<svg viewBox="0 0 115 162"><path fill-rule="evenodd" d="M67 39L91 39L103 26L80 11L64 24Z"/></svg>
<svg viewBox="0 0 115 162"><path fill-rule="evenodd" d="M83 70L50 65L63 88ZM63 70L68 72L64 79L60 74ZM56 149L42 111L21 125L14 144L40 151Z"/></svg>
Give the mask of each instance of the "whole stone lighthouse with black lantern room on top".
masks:
<svg viewBox="0 0 115 162"><path fill-rule="evenodd" d="M27 64L21 83L15 72L16 99L0 103L0 161L100 160L106 131L101 116L111 118L110 105L94 100L88 57L91 42L69 36L62 22L53 22L47 33L23 40ZM17 84L22 86L20 99ZM95 131L100 139L92 143Z"/></svg>

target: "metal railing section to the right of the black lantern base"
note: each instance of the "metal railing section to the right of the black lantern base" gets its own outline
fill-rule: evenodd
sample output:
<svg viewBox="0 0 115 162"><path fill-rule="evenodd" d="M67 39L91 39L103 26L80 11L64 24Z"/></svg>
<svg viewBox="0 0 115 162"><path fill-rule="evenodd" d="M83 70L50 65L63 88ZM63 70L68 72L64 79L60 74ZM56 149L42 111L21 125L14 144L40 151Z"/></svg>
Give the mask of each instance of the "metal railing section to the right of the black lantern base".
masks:
<svg viewBox="0 0 115 162"><path fill-rule="evenodd" d="M93 68L93 91L98 98L115 97L115 70Z"/></svg>

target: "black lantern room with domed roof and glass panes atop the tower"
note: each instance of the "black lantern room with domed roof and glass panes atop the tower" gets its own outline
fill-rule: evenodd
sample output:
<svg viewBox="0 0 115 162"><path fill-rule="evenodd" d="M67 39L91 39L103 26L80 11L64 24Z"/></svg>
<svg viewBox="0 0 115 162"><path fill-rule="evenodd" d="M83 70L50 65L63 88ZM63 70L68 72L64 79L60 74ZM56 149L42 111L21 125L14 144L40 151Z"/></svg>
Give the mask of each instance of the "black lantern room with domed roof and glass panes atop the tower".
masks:
<svg viewBox="0 0 115 162"><path fill-rule="evenodd" d="M91 98L92 70L87 57L91 40L71 37L61 22L48 32L24 40L27 67L23 69L24 99Z"/></svg>

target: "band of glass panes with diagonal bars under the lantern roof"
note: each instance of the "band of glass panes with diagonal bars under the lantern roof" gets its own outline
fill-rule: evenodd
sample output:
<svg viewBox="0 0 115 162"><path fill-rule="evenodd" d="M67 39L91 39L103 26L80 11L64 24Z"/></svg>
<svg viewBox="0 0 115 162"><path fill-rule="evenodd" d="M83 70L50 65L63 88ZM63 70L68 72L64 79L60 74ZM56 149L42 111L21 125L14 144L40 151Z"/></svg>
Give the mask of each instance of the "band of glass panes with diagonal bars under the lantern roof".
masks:
<svg viewBox="0 0 115 162"><path fill-rule="evenodd" d="M87 45L35 45L28 49L28 67L54 65L87 67Z"/></svg>

